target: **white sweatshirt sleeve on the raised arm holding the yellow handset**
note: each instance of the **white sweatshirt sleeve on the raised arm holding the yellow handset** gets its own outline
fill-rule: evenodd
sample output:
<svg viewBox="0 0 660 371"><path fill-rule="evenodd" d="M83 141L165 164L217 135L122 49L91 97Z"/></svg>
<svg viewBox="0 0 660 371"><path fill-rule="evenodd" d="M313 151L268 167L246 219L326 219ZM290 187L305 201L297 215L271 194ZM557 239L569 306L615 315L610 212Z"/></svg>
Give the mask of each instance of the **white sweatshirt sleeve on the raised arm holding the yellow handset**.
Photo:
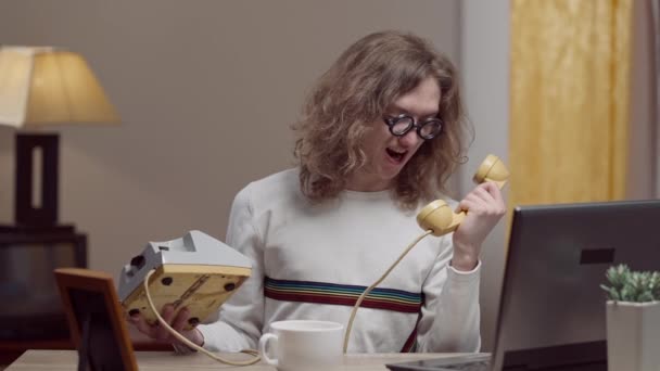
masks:
<svg viewBox="0 0 660 371"><path fill-rule="evenodd" d="M481 261L468 272L449 266L452 234L424 281L424 304L417 325L417 351L479 351L481 348L479 281Z"/></svg>

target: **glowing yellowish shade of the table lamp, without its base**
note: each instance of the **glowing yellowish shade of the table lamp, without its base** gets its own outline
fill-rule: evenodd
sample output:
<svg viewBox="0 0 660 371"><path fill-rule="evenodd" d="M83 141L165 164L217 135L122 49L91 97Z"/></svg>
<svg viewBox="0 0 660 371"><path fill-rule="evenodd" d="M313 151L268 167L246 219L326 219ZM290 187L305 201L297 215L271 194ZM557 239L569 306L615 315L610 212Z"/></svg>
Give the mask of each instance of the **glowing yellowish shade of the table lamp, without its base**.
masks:
<svg viewBox="0 0 660 371"><path fill-rule="evenodd" d="M118 123L85 59L54 48L0 48L0 124Z"/></svg>

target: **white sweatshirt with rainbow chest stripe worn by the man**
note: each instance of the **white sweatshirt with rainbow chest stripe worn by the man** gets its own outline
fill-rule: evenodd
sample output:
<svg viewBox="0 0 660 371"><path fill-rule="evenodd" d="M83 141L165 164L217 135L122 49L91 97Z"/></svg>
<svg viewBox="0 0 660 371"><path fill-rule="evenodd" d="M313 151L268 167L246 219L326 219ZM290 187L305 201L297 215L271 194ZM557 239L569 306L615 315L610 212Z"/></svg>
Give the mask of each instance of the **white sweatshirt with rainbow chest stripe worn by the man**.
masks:
<svg viewBox="0 0 660 371"><path fill-rule="evenodd" d="M252 276L219 321L199 327L205 348L255 349L269 323L284 319L345 325L364 289L423 233L388 191L344 191L312 205L299 184L290 169L237 194L226 242L252 259ZM478 351L481 264L459 272L452 252L450 234L410 251L358 309L348 351Z"/></svg>

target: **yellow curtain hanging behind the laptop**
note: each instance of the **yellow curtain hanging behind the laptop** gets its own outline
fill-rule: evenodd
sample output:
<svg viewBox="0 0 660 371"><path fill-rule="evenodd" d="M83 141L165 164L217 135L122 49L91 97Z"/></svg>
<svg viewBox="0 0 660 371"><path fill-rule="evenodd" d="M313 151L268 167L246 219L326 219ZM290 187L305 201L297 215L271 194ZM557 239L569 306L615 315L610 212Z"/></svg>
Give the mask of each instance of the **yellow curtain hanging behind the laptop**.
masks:
<svg viewBox="0 0 660 371"><path fill-rule="evenodd" d="M633 0L511 0L511 205L625 194Z"/></svg>

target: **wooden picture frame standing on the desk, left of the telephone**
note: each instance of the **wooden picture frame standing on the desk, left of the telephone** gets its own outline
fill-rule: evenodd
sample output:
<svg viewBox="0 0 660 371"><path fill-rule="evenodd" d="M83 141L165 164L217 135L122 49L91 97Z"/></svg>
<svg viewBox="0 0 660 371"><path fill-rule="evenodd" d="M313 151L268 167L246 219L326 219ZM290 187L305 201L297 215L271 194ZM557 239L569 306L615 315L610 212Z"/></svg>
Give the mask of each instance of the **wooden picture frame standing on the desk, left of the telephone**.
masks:
<svg viewBox="0 0 660 371"><path fill-rule="evenodd" d="M54 270L78 370L137 371L124 311L110 274L82 268Z"/></svg>

